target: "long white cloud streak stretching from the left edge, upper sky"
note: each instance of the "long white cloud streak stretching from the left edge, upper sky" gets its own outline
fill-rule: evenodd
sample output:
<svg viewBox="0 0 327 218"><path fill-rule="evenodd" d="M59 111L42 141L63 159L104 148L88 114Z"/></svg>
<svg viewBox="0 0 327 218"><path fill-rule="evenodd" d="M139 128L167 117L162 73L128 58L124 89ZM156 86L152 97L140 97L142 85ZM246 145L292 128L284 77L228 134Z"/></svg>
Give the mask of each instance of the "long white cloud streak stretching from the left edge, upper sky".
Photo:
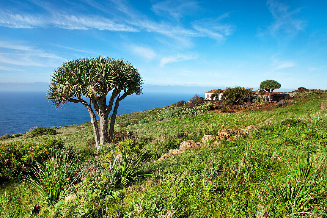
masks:
<svg viewBox="0 0 327 218"><path fill-rule="evenodd" d="M0 10L0 26L10 28L58 27L63 29L99 29L135 32L138 29L100 16L68 15L56 11L51 15L15 14Z"/></svg>

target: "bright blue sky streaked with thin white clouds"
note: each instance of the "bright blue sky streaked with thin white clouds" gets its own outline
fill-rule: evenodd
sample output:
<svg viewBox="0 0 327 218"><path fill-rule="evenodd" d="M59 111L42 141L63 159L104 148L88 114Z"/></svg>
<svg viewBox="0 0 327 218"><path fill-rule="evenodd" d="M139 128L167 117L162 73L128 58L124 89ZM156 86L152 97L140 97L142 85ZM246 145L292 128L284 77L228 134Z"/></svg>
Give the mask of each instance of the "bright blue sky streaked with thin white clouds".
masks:
<svg viewBox="0 0 327 218"><path fill-rule="evenodd" d="M0 82L67 59L135 65L145 85L327 89L326 1L0 1ZM31 87L32 88L32 87Z"/></svg>

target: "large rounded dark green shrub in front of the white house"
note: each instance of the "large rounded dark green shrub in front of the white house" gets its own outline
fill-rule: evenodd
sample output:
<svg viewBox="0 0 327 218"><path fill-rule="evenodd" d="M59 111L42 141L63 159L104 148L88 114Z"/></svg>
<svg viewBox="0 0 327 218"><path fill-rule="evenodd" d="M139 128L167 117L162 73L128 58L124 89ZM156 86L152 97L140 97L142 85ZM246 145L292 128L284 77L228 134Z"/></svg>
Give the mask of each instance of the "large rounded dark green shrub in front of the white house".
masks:
<svg viewBox="0 0 327 218"><path fill-rule="evenodd" d="M251 88L244 89L239 86L234 88L227 87L222 95L222 99L228 105L244 104L246 102L251 102L254 99L251 91Z"/></svg>

